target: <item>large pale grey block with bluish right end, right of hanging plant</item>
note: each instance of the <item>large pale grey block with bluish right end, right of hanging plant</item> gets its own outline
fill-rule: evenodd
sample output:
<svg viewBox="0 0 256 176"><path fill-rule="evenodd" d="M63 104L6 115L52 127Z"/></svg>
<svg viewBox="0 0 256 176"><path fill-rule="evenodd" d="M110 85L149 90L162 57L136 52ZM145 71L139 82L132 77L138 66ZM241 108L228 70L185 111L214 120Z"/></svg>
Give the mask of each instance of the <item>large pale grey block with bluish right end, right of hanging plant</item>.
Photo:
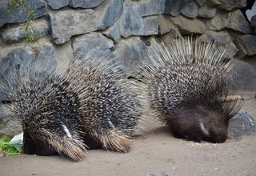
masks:
<svg viewBox="0 0 256 176"><path fill-rule="evenodd" d="M52 37L56 44L62 44L77 34L105 30L112 26L122 14L123 2L106 0L94 10L60 10L50 13Z"/></svg>

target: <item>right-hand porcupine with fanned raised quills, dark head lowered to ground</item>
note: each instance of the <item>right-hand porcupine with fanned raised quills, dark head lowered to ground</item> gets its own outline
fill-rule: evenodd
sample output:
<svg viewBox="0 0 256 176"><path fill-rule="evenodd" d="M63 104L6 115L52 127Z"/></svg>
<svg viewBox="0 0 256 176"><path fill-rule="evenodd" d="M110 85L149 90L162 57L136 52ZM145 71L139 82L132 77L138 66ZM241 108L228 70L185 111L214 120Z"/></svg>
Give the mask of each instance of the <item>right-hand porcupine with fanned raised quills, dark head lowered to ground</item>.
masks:
<svg viewBox="0 0 256 176"><path fill-rule="evenodd" d="M226 141L229 120L241 108L229 79L234 64L226 54L214 42L177 38L142 59L150 105L174 137Z"/></svg>

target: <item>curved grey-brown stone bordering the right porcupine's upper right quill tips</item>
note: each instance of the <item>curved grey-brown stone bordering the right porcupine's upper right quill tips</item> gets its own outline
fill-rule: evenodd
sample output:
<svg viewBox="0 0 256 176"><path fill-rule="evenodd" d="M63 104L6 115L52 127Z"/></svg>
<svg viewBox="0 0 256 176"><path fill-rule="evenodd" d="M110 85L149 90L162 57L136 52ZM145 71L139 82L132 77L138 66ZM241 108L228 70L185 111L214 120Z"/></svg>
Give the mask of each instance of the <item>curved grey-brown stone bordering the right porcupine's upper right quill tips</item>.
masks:
<svg viewBox="0 0 256 176"><path fill-rule="evenodd" d="M227 56L226 58L233 58L235 54L237 54L238 49L232 42L230 38L230 34L226 31L214 32L214 31L206 31L206 33L202 34L199 38L199 41L214 41L217 45L226 46Z"/></svg>

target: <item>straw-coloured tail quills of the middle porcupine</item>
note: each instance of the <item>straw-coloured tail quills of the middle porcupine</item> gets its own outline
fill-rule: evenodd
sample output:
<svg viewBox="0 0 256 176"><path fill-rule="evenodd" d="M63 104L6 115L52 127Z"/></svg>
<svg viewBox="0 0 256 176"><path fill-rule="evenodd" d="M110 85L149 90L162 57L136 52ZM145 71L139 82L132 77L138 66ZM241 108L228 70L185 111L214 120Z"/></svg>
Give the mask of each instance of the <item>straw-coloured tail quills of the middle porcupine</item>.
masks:
<svg viewBox="0 0 256 176"><path fill-rule="evenodd" d="M117 150L122 153L129 152L131 147L129 137L117 129L109 130L103 134L102 143L106 149Z"/></svg>

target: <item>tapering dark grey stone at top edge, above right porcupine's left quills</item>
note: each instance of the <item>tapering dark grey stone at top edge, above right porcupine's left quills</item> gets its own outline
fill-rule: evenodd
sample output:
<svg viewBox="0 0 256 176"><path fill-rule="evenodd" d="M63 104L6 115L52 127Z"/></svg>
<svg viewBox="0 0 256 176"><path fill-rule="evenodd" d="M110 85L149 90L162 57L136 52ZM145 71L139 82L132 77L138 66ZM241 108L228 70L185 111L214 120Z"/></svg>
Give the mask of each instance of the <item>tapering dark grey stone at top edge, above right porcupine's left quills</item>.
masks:
<svg viewBox="0 0 256 176"><path fill-rule="evenodd" d="M170 14L172 16L177 16L179 12L186 6L188 0L168 0L165 4L165 14Z"/></svg>

